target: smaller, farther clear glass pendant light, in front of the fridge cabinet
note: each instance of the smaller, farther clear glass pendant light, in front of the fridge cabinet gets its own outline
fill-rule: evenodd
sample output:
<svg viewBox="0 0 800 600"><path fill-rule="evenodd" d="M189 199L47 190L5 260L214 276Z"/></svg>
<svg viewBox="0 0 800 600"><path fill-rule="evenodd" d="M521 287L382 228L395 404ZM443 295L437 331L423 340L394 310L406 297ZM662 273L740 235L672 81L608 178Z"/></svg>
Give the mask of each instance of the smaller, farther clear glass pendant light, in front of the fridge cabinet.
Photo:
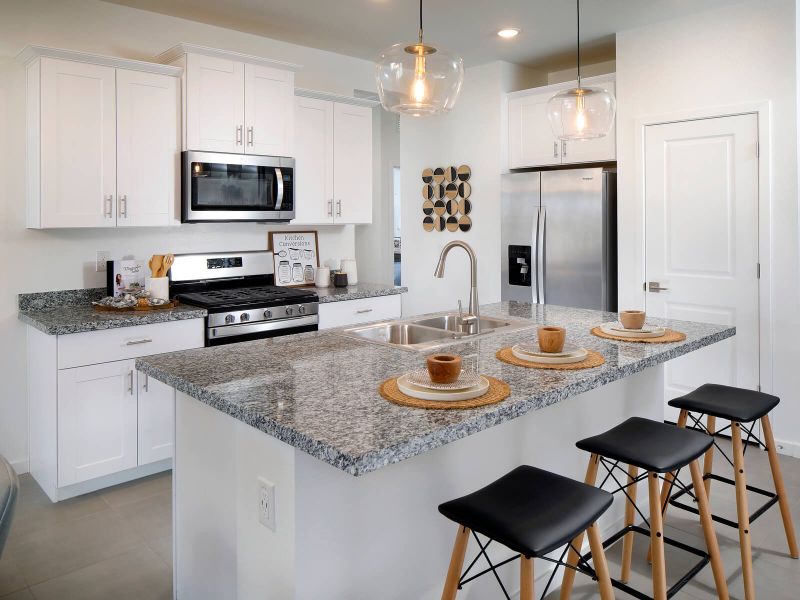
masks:
<svg viewBox="0 0 800 600"><path fill-rule="evenodd" d="M617 101L607 90L581 85L581 2L578 9L578 87L559 92L547 102L553 135L562 140L591 140L608 135Z"/></svg>

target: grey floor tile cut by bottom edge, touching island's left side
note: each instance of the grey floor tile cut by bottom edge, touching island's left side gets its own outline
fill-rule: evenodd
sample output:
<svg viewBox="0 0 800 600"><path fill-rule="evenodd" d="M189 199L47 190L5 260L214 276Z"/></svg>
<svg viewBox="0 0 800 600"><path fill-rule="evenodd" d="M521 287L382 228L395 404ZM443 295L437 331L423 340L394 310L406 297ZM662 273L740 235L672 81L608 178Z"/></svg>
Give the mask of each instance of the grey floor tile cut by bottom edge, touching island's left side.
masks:
<svg viewBox="0 0 800 600"><path fill-rule="evenodd" d="M36 600L168 600L172 574L144 544L33 586Z"/></svg>

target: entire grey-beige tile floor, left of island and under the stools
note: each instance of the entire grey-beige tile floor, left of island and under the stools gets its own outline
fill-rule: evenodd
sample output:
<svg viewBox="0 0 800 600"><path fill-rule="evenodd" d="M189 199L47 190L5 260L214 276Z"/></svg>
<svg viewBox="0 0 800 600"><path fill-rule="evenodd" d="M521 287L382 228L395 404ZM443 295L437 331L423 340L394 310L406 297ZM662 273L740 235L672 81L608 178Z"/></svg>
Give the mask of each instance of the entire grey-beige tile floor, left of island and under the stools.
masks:
<svg viewBox="0 0 800 600"><path fill-rule="evenodd" d="M800 525L800 460L782 457L781 461L795 523ZM749 451L747 466L748 483L771 489L764 452ZM732 476L730 467L719 457L714 470ZM23 476L11 536L0 559L0 600L170 598L170 486L170 474L164 473L52 504L29 475ZM714 486L712 508L719 514L733 517L732 488L722 484ZM757 501L758 498L751 495L751 511L757 506ZM702 547L702 533L696 517L672 510L666 522L668 536ZM798 600L800 561L792 560L786 554L786 540L777 507L756 521L752 530L759 600ZM731 599L743 599L738 533L717 525L717 534ZM631 585L649 593L646 550L645 539L637 537ZM608 554L615 574L619 573L620 551L621 544L617 544ZM668 548L668 583L688 570L691 562L690 557ZM557 593L548 594L548 600L557 597ZM579 575L573 598L589 600L598 597L593 582ZM618 597L628 596L619 592ZM716 598L710 568L704 569L676 597L687 600Z"/></svg>

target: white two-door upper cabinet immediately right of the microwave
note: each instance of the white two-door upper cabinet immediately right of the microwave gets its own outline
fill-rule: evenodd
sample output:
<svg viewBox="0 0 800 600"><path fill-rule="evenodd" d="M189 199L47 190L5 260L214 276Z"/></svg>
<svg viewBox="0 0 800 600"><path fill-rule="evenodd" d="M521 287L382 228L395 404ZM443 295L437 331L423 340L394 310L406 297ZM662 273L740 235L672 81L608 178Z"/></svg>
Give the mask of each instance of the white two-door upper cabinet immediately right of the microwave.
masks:
<svg viewBox="0 0 800 600"><path fill-rule="evenodd" d="M292 223L371 223L372 103L314 94L320 97L295 98L297 208Z"/></svg>

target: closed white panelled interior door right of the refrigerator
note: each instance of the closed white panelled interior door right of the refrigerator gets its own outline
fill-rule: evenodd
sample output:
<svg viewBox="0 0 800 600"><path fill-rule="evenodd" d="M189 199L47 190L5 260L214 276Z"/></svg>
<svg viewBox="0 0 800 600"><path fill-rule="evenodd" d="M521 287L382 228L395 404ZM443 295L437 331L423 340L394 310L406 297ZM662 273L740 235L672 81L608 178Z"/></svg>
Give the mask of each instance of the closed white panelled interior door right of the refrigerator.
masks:
<svg viewBox="0 0 800 600"><path fill-rule="evenodd" d="M646 127L644 192L648 290L666 288L647 292L647 312L737 329L668 362L666 399L703 383L757 389L758 117Z"/></svg>

